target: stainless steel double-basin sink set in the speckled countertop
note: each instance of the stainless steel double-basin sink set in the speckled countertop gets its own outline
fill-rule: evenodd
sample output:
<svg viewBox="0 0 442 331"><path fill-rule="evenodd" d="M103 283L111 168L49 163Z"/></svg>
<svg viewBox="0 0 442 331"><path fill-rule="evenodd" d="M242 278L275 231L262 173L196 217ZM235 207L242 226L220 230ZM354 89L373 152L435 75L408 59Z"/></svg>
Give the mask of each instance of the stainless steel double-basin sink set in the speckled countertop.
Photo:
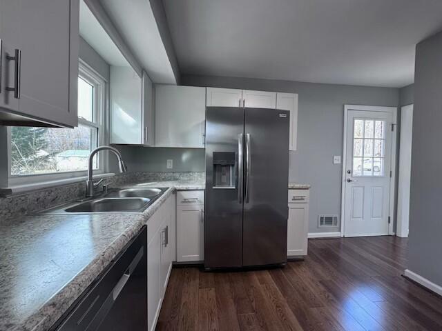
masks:
<svg viewBox="0 0 442 331"><path fill-rule="evenodd" d="M142 212L166 190L167 188L115 188L99 197L61 205L57 208L45 210L41 214Z"/></svg>

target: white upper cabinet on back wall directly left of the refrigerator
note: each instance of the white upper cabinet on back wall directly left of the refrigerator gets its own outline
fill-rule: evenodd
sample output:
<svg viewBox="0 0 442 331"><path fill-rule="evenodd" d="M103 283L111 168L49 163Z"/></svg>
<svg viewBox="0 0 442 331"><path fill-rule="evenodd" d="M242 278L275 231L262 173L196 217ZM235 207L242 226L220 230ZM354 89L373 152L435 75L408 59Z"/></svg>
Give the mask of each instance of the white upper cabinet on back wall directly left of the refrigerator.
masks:
<svg viewBox="0 0 442 331"><path fill-rule="evenodd" d="M204 148L206 89L155 86L155 147Z"/></svg>

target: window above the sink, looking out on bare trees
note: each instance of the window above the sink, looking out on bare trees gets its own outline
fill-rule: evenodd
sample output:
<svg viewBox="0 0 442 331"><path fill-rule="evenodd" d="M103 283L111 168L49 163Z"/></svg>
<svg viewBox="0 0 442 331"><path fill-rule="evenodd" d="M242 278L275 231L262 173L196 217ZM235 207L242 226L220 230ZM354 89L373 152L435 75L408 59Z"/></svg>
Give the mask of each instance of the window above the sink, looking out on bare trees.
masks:
<svg viewBox="0 0 442 331"><path fill-rule="evenodd" d="M30 175L84 174L90 151L104 139L104 87L104 80L80 61L77 128L10 128L12 181ZM94 168L103 170L98 157L94 158Z"/></svg>

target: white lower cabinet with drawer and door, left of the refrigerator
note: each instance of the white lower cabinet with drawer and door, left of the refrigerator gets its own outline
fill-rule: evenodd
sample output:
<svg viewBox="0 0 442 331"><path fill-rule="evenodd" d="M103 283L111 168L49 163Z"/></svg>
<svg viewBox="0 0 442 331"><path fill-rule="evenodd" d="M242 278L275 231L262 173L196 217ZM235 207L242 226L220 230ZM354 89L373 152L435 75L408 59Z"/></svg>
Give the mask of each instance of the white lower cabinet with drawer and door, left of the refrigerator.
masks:
<svg viewBox="0 0 442 331"><path fill-rule="evenodd" d="M177 193L177 262L204 260L204 191Z"/></svg>

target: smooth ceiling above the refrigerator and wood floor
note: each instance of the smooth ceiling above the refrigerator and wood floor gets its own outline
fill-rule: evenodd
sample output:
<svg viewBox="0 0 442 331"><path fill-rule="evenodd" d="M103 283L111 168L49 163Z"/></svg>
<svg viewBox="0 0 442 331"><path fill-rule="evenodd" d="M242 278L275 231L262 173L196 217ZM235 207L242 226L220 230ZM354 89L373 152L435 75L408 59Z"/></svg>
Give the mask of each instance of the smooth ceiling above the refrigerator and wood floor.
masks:
<svg viewBox="0 0 442 331"><path fill-rule="evenodd" d="M403 87L441 0L163 0L180 71Z"/></svg>

